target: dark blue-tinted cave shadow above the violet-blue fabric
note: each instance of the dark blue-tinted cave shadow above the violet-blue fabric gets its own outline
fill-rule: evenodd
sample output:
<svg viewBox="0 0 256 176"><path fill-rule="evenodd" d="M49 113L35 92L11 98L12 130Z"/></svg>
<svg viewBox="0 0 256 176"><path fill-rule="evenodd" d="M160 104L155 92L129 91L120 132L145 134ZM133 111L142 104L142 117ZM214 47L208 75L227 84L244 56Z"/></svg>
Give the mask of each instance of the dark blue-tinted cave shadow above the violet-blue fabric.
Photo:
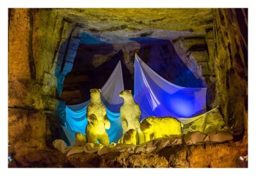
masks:
<svg viewBox="0 0 256 176"><path fill-rule="evenodd" d="M204 81L197 79L181 60L170 40L151 37L129 39L140 44L141 49L137 53L138 56L159 76L179 86L188 88L205 87ZM156 46L155 49L152 48L154 45Z"/></svg>

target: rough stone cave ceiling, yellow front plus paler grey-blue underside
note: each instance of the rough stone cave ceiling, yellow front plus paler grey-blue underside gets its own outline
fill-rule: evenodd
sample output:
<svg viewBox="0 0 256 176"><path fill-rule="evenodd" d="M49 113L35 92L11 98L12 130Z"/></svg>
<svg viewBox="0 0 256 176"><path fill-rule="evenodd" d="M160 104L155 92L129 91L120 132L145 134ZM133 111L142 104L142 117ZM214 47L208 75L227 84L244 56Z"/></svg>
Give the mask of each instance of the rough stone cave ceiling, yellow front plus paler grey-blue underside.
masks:
<svg viewBox="0 0 256 176"><path fill-rule="evenodd" d="M213 21L209 8L87 8L57 9L56 12L84 28L84 33L90 36L90 40L81 40L86 44L92 39L97 44L97 40L109 44L131 42L132 38L145 36L174 40L189 34L205 35L205 29L212 28Z"/></svg>

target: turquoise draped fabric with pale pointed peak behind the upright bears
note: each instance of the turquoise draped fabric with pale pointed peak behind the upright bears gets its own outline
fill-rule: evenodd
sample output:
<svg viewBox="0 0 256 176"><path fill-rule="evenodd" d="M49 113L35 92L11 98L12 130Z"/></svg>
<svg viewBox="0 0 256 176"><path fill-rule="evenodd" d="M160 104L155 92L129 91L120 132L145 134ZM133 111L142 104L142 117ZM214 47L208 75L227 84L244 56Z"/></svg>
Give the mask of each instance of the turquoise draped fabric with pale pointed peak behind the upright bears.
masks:
<svg viewBox="0 0 256 176"><path fill-rule="evenodd" d="M119 61L115 70L108 81L101 88L101 100L107 108L107 116L111 123L110 129L107 129L110 142L117 142L122 137L122 125L120 122L120 107L124 100L118 96L124 90L124 81L122 77L122 67ZM90 100L76 105L66 106L66 120L63 130L68 138L70 145L74 145L76 132L85 134L86 109Z"/></svg>

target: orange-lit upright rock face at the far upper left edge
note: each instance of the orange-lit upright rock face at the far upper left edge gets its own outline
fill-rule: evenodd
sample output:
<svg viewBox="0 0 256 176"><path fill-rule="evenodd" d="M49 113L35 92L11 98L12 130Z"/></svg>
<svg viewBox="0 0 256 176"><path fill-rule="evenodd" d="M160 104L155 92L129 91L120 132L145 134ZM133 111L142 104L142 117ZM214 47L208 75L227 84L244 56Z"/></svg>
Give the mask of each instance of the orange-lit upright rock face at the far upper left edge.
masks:
<svg viewBox="0 0 256 176"><path fill-rule="evenodd" d="M22 106L26 100L31 79L31 53L28 50L30 30L28 10L12 10L9 26L8 106Z"/></svg>

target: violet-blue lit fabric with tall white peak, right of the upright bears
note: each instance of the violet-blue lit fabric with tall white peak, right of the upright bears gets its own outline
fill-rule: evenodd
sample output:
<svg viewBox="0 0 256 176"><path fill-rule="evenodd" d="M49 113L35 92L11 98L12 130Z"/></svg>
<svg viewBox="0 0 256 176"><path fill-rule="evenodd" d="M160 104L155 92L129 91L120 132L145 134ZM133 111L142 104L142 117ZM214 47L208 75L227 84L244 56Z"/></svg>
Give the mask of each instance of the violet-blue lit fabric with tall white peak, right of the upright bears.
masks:
<svg viewBox="0 0 256 176"><path fill-rule="evenodd" d="M205 113L206 91L166 81L135 55L134 100L141 109L140 120L147 116L189 118Z"/></svg>

